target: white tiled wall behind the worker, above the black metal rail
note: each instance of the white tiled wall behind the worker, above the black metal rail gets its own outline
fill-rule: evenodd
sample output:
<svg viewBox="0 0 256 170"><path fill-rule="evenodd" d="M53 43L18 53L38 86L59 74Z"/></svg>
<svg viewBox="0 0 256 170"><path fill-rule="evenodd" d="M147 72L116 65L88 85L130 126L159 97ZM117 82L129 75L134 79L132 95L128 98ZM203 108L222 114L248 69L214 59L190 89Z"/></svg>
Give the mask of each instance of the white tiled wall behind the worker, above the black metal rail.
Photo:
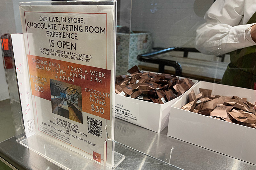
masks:
<svg viewBox="0 0 256 170"><path fill-rule="evenodd" d="M133 0L132 30L153 33L154 46L194 47L213 0Z"/></svg>

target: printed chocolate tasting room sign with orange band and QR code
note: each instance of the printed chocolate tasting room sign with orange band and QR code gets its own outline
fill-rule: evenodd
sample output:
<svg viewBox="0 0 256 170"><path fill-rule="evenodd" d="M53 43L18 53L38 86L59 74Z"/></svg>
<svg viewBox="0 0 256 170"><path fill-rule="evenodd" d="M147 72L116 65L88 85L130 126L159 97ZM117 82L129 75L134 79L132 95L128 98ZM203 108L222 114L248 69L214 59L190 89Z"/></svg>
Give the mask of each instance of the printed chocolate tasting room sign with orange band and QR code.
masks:
<svg viewBox="0 0 256 170"><path fill-rule="evenodd" d="M113 130L113 5L20 6L36 134L103 164ZM107 164L112 165L107 143Z"/></svg>

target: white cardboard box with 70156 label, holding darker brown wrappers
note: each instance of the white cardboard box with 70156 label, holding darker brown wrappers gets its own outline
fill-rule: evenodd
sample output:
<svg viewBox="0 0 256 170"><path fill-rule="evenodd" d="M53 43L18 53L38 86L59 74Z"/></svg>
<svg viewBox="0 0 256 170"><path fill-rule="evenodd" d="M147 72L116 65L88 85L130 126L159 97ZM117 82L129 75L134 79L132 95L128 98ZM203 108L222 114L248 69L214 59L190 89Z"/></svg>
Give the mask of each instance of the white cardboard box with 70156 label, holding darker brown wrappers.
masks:
<svg viewBox="0 0 256 170"><path fill-rule="evenodd" d="M195 85L198 82L190 80ZM115 94L115 117L159 133L168 125L171 105L181 96L165 104L157 104Z"/></svg>

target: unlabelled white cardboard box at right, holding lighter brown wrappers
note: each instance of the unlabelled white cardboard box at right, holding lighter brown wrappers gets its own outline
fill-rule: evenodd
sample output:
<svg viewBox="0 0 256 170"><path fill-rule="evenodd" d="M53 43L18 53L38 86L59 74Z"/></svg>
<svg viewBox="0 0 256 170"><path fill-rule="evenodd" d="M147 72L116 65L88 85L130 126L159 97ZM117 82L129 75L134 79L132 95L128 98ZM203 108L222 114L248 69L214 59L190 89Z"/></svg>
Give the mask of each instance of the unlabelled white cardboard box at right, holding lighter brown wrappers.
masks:
<svg viewBox="0 0 256 170"><path fill-rule="evenodd" d="M256 101L256 90L200 81L171 106L168 136L256 164L256 129L180 109L186 104L188 93L193 89L198 94L199 88L212 89L213 95Z"/></svg>

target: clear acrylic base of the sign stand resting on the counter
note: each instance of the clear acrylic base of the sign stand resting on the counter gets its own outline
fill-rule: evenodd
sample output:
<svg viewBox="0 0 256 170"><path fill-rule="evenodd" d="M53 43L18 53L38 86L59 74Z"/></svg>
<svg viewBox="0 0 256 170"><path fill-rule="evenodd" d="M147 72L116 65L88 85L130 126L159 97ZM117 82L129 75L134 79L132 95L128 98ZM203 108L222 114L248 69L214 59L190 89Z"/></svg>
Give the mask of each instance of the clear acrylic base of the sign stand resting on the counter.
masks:
<svg viewBox="0 0 256 170"><path fill-rule="evenodd" d="M54 143L51 140L43 138L40 135L32 135L25 138L20 141L20 144L45 157L50 162L60 166L63 169L76 170L84 169L86 167L86 169L104 170L104 166L98 162L85 158L84 156L63 147L60 144ZM102 148L104 148L103 145ZM115 151L113 167L118 166L124 160L124 158L124 155ZM101 163L103 163L103 155L101 157ZM110 170L112 167L107 165L106 169Z"/></svg>

